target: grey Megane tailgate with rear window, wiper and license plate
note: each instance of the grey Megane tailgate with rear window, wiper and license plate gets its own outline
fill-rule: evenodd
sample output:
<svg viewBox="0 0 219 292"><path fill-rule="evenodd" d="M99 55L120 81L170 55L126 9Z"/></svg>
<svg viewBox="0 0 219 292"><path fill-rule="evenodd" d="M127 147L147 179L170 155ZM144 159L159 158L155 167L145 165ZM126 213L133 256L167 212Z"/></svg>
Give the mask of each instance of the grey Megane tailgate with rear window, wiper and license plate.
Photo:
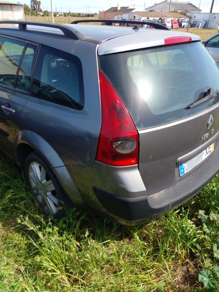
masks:
<svg viewBox="0 0 219 292"><path fill-rule="evenodd" d="M216 152L219 125L219 70L204 46L190 41L99 60L138 130L147 194L194 173L198 180L199 167Z"/></svg>

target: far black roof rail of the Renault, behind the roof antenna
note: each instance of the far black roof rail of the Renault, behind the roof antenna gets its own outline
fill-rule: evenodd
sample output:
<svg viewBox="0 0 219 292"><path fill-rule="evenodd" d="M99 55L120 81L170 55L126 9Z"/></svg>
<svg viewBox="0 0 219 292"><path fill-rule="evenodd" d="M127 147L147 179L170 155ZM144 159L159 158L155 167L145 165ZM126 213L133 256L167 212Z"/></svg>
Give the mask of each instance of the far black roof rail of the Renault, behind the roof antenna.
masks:
<svg viewBox="0 0 219 292"><path fill-rule="evenodd" d="M112 25L113 23L130 23L130 24L142 24L142 25L151 25L155 29L165 29L165 30L170 30L168 27L159 24L159 23L154 23L154 22L146 22L146 21L135 21L135 20L109 20L109 19L86 19L86 20L75 20L71 22L70 24L77 24L80 22L105 22L106 25ZM0 21L1 23L1 21ZM136 29L136 28L135 28Z"/></svg>

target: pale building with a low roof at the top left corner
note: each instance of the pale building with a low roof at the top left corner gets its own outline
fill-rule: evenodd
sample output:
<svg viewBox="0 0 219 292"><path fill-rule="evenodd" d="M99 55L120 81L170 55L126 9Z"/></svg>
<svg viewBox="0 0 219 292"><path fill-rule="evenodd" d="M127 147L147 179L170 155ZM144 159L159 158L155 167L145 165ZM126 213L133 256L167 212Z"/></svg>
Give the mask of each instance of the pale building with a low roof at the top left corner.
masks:
<svg viewBox="0 0 219 292"><path fill-rule="evenodd" d="M11 2L0 2L0 19L1 20L23 20L24 7L22 4Z"/></svg>

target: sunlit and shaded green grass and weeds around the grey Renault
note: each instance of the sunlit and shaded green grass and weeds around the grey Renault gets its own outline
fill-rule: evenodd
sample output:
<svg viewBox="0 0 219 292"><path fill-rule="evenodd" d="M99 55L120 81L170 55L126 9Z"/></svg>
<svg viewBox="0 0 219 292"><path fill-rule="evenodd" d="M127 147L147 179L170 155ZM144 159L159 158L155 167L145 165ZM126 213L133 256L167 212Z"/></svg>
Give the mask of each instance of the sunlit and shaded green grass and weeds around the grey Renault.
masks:
<svg viewBox="0 0 219 292"><path fill-rule="evenodd" d="M1 154L0 180L1 292L219 291L218 177L135 227L78 209L46 218Z"/></svg>

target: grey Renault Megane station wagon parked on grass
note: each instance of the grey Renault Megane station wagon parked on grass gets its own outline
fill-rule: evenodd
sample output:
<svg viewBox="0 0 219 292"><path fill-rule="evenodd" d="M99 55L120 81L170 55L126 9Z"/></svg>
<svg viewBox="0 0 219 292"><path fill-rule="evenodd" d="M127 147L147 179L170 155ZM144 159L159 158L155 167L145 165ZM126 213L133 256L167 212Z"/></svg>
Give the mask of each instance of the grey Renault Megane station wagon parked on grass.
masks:
<svg viewBox="0 0 219 292"><path fill-rule="evenodd" d="M218 173L219 71L199 36L3 23L0 147L45 213L73 205L137 224Z"/></svg>

